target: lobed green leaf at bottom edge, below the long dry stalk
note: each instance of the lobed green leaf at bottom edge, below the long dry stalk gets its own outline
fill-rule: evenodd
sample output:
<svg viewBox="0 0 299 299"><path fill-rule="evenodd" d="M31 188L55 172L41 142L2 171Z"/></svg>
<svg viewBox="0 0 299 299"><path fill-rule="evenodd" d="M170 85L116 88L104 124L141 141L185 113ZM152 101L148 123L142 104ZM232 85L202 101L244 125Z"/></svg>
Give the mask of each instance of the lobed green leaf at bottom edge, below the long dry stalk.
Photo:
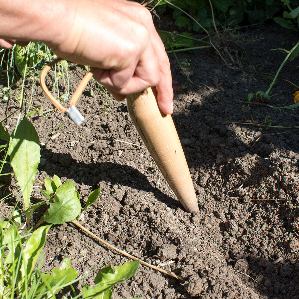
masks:
<svg viewBox="0 0 299 299"><path fill-rule="evenodd" d="M114 273L110 266L105 266L97 273L97 276L94 280L96 286L94 286L93 288L84 286L83 292L87 292L85 292L82 297L87 299L110 299L113 291L113 286L117 283L121 283L131 278L136 273L138 265L139 260L124 263L120 267L115 266Z"/></svg>

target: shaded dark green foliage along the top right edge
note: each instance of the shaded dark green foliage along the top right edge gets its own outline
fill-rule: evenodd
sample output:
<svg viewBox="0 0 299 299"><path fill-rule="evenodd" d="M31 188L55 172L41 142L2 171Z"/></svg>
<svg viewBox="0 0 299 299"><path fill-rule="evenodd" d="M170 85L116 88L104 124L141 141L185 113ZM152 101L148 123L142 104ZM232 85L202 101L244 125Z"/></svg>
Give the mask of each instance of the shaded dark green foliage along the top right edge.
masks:
<svg viewBox="0 0 299 299"><path fill-rule="evenodd" d="M170 0L169 2L171 4L161 1L157 6L158 13L164 13L168 8L170 12L172 11L172 16L176 20L175 25L178 27L200 31L201 25L208 32L211 31L212 10L208 0ZM283 27L298 30L299 7L296 0L211 0L211 4L217 27L240 23L257 24L273 19Z"/></svg>

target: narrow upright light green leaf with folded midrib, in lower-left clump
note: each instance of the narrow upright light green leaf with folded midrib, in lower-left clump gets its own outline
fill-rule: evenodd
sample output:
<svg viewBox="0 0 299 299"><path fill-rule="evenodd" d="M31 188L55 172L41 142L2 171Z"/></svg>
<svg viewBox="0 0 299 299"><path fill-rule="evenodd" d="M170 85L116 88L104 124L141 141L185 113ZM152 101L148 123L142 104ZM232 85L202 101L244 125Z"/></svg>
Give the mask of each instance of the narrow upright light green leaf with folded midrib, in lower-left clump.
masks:
<svg viewBox="0 0 299 299"><path fill-rule="evenodd" d="M31 272L33 271L37 259L39 257L42 248L45 245L47 233L51 225L45 225L39 227L32 235L27 239L25 248L23 250L23 259L22 259L22 279L24 280L25 275L29 278Z"/></svg>

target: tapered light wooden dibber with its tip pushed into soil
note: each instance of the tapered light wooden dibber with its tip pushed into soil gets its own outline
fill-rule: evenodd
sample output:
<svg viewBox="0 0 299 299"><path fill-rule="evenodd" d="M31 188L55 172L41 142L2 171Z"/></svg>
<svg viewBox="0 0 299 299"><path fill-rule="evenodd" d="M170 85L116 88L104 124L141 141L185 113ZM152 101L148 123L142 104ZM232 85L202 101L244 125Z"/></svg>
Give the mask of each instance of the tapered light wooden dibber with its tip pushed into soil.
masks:
<svg viewBox="0 0 299 299"><path fill-rule="evenodd" d="M158 108L151 88L126 98L129 115L167 183L188 212L198 211L193 182L171 115Z"/></svg>

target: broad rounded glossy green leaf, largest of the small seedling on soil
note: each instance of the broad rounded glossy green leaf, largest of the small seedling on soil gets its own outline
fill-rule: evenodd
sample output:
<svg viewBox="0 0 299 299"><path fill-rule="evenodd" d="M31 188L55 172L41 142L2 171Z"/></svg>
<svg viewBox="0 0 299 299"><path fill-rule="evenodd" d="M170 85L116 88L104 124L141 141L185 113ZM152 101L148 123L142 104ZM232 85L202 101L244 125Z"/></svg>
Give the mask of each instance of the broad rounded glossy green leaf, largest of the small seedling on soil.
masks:
<svg viewBox="0 0 299 299"><path fill-rule="evenodd" d="M72 181L67 181L56 189L55 202L50 204L44 220L53 224L73 221L81 210L80 200Z"/></svg>

